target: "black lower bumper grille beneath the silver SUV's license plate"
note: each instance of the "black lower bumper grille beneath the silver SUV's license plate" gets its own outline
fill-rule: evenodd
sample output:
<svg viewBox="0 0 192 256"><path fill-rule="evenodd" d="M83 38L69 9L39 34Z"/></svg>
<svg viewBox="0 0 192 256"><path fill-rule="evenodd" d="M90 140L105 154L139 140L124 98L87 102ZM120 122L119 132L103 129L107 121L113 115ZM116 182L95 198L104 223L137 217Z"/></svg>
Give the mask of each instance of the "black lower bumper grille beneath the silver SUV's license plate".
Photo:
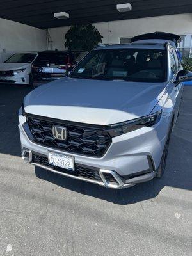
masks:
<svg viewBox="0 0 192 256"><path fill-rule="evenodd" d="M63 172L63 173L68 173L68 174L74 175L76 177L84 177L87 179L94 179L94 180L102 181L102 179L100 178L100 175L99 175L99 169L96 169L96 168L95 168L95 170L92 170L90 168L81 166L79 164L75 164L75 171L69 171L67 169L52 166L51 164L49 164L48 158L46 156L38 156L36 154L33 154L33 163L38 163L38 164L42 164L47 167L52 167L54 170L57 170L57 171Z"/></svg>

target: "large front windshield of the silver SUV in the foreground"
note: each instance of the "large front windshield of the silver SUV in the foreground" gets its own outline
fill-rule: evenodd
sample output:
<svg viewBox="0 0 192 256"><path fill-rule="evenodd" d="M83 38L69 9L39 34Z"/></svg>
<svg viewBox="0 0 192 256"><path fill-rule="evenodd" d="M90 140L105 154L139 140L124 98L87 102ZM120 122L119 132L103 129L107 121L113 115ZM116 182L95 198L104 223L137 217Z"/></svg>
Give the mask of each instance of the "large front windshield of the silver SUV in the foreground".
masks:
<svg viewBox="0 0 192 256"><path fill-rule="evenodd" d="M94 50L70 77L140 82L166 81L166 53L159 49Z"/></svg>

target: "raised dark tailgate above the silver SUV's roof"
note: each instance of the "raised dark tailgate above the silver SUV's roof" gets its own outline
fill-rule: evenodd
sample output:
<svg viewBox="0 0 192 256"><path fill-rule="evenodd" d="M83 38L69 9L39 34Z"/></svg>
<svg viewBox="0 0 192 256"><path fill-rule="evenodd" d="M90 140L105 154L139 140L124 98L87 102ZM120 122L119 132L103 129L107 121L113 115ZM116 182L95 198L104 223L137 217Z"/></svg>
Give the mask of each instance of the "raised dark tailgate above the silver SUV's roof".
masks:
<svg viewBox="0 0 192 256"><path fill-rule="evenodd" d="M140 40L148 40L148 39L154 39L154 40L168 40L175 43L176 47L178 46L178 43L182 40L182 37L176 34L172 33L165 33L165 32L154 32L154 33L148 33L143 35L134 36L131 39L132 42L140 41Z"/></svg>

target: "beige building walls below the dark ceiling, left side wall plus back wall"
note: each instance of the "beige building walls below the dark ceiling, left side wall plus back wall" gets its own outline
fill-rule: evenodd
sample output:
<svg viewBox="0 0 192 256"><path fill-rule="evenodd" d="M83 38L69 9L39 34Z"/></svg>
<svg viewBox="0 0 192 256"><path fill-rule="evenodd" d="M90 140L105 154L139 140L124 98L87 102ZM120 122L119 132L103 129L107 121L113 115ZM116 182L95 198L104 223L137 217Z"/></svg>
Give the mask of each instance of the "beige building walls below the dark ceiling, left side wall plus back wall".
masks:
<svg viewBox="0 0 192 256"><path fill-rule="evenodd" d="M119 20L93 25L104 36L104 43L119 43L120 38L129 38L154 31L165 31L179 35L192 34L192 14ZM49 43L49 49L64 49L65 33L68 28L49 29L52 40ZM45 30L0 18L0 62L13 52L43 51L45 49L47 49Z"/></svg>

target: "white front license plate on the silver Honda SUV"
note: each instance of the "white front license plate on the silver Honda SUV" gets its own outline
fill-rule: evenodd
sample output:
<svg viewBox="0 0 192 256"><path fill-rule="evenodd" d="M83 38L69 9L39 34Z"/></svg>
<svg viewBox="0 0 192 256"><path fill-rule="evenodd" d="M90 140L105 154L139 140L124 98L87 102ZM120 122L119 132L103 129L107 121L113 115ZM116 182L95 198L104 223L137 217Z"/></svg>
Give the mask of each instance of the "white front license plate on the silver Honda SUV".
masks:
<svg viewBox="0 0 192 256"><path fill-rule="evenodd" d="M74 171L74 157L54 152L48 152L49 164Z"/></svg>

